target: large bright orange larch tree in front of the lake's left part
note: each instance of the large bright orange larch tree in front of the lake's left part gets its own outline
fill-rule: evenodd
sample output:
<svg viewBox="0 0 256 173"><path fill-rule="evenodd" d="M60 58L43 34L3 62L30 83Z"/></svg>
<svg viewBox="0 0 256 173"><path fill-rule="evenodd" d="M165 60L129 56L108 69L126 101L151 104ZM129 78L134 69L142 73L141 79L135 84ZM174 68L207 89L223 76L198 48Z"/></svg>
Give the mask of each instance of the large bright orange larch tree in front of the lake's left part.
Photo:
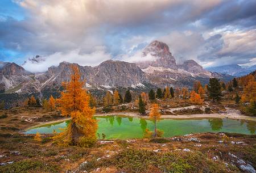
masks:
<svg viewBox="0 0 256 173"><path fill-rule="evenodd" d="M61 145L92 146L96 140L97 121L93 119L94 108L89 106L89 95L83 88L80 71L76 65L71 65L71 78L64 82L65 92L61 92L57 100L63 116L71 116L67 129L53 137Z"/></svg>

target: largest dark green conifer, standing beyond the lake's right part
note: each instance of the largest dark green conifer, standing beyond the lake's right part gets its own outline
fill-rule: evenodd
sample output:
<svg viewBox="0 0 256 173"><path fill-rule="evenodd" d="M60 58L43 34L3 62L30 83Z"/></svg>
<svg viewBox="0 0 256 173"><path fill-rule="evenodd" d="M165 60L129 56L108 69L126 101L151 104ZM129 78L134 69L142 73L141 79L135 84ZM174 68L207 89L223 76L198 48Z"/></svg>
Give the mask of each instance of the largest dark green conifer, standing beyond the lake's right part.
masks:
<svg viewBox="0 0 256 173"><path fill-rule="evenodd" d="M221 86L219 79L217 78L210 78L209 86L208 86L210 98L214 100L220 100L221 97Z"/></svg>

